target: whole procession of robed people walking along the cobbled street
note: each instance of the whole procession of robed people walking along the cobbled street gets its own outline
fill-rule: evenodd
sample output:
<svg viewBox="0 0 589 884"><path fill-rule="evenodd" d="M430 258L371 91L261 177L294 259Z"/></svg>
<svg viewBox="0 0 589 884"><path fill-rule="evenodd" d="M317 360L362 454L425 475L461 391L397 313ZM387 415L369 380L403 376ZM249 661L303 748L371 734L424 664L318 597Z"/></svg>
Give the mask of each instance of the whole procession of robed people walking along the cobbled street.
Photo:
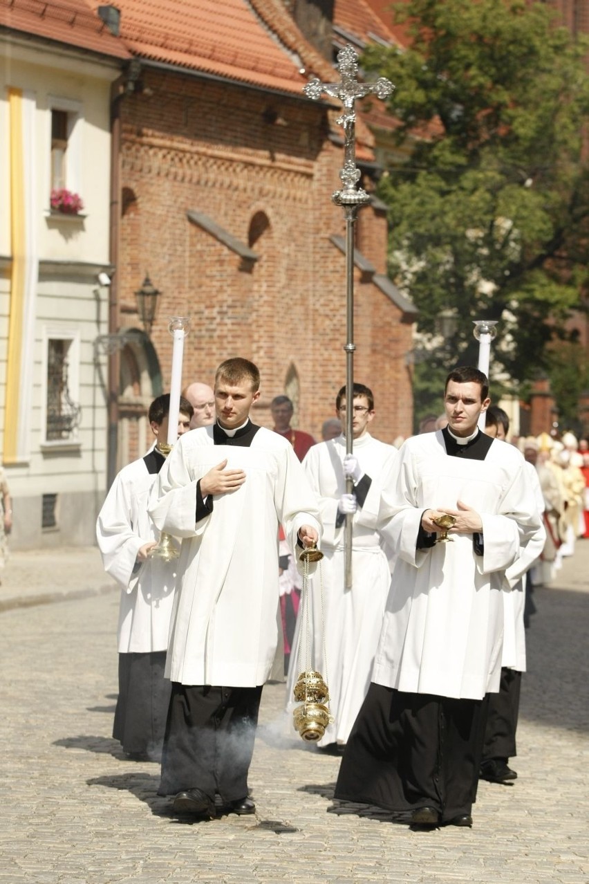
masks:
<svg viewBox="0 0 589 884"><path fill-rule="evenodd" d="M128 758L161 760L175 815L255 811L262 686L285 680L290 715L303 644L327 667L316 751L342 756L336 804L470 827L479 779L517 778L524 629L534 587L589 537L589 443L510 438L476 369L450 372L443 395L442 415L388 445L370 388L348 402L342 387L317 442L284 394L271 430L253 423L259 372L232 359L214 387L183 391L167 457L170 396L152 403L154 444L117 476L97 537L122 590L113 736ZM161 532L178 558L153 557ZM303 626L300 552L315 544Z"/></svg>

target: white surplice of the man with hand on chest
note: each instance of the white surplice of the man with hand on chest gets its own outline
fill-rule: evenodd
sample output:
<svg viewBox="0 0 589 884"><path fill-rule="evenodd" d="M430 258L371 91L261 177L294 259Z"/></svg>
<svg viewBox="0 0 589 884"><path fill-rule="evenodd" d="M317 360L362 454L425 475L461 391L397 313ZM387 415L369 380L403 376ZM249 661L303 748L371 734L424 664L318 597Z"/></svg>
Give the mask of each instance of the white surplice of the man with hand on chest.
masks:
<svg viewBox="0 0 589 884"><path fill-rule="evenodd" d="M227 469L245 471L245 483L214 495L213 512L197 523L197 482L225 459ZM166 674L186 685L263 684L278 637L278 523L291 550L301 525L321 537L317 501L291 444L263 427L249 447L215 446L212 426L185 433L149 509L160 530L183 538Z"/></svg>

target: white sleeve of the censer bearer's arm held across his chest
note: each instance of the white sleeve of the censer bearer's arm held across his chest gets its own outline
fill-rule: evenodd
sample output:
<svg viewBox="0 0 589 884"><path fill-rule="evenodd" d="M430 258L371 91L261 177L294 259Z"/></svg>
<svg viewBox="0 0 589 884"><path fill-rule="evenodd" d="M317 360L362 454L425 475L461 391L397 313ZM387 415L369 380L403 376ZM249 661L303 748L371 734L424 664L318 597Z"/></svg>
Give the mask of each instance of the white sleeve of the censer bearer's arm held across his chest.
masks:
<svg viewBox="0 0 589 884"><path fill-rule="evenodd" d="M196 522L197 485L188 468L182 438L163 464L149 499L149 514L160 531L174 537L196 537L207 525L210 513ZM202 501L202 498L201 498Z"/></svg>

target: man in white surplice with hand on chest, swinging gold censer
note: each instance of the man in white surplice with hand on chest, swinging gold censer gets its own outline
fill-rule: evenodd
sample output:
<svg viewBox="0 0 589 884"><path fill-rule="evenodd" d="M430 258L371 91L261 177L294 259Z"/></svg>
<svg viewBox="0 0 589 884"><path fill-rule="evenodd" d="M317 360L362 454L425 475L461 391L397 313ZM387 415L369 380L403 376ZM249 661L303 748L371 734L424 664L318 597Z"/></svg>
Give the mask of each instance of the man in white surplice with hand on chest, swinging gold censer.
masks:
<svg viewBox="0 0 589 884"><path fill-rule="evenodd" d="M180 439L149 506L182 537L159 789L177 815L254 812L247 773L278 639L278 526L293 552L321 530L291 443L250 420L259 398L253 362L222 362L216 423Z"/></svg>

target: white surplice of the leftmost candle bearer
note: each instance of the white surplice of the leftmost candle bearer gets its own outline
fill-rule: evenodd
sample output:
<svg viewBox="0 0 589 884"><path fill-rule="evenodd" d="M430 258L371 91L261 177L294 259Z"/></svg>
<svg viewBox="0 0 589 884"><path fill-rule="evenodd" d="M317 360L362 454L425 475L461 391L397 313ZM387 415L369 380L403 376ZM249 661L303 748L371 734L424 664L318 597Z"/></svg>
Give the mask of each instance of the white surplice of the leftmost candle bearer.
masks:
<svg viewBox="0 0 589 884"><path fill-rule="evenodd" d="M121 469L96 522L104 569L122 589L119 653L150 653L168 648L176 564L148 559L133 574L140 547L160 537L147 514L147 501L156 479L157 473L149 473L142 458Z"/></svg>

